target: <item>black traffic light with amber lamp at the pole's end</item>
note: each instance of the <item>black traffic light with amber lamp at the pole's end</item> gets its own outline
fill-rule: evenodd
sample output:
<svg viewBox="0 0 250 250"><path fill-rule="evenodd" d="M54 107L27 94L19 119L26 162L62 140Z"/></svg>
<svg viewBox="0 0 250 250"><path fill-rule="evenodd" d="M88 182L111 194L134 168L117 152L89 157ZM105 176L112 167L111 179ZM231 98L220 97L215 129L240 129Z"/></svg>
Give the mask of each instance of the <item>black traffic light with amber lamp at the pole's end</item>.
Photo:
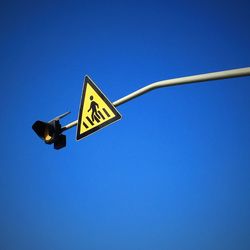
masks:
<svg viewBox="0 0 250 250"><path fill-rule="evenodd" d="M36 121L32 129L46 144L54 144L54 149L61 149L66 146L66 136L62 134L59 120L69 113L66 112L49 122Z"/></svg>

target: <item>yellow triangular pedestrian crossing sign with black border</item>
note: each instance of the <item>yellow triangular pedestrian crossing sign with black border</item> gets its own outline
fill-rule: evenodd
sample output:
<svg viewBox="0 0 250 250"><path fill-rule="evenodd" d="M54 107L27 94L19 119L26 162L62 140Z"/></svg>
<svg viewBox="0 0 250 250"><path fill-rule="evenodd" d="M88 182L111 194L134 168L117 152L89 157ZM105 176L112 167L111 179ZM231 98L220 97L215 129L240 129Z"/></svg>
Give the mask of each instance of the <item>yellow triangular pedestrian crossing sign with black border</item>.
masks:
<svg viewBox="0 0 250 250"><path fill-rule="evenodd" d="M119 119L121 115L114 105L86 76L78 114L76 139L80 140Z"/></svg>

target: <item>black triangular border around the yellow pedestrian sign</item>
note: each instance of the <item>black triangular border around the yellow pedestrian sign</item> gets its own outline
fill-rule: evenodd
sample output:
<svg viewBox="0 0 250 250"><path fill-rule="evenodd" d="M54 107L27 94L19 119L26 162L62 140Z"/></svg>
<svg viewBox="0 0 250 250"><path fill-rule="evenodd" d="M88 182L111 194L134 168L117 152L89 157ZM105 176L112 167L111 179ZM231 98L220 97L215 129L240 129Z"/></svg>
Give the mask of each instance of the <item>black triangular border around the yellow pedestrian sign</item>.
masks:
<svg viewBox="0 0 250 250"><path fill-rule="evenodd" d="M90 84L91 87L97 92L97 94L102 98L102 100L107 104L107 106L112 110L112 112L115 114L115 117L107 120L106 122L100 124L99 126L96 126L82 134L80 134L80 125L82 123L82 112L83 112L83 102L85 99L85 94L86 94L86 86L87 84ZM78 113L78 122L77 122L77 134L76 134L76 140L80 140L94 132L96 132L97 130L117 121L120 120L122 118L121 114L118 112L118 110L115 108L115 106L108 100L108 98L102 93L102 91L95 85L95 83L90 79L89 76L85 76L84 79L84 86L83 86L83 90L82 90L82 96L81 96L81 103L80 103L80 111Z"/></svg>

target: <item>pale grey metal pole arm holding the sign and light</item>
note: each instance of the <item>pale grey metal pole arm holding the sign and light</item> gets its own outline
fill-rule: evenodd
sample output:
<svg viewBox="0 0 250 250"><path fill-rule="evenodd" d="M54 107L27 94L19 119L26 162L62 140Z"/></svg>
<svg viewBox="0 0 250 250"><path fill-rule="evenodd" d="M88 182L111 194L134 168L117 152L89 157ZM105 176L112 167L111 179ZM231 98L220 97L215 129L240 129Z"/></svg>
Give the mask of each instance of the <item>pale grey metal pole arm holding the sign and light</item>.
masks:
<svg viewBox="0 0 250 250"><path fill-rule="evenodd" d="M220 79L226 79L226 78L235 78L235 77L242 77L242 76L250 76L250 67L240 68L240 69L232 69L232 70L224 70L224 71L218 71L218 72L213 72L213 73L186 76L186 77L174 78L174 79L170 79L170 80L159 81L159 82L151 83L151 84L149 84L141 89L138 89L137 91L135 91L135 92L133 92L125 97L122 97L121 99L113 102L113 105L115 107L117 107L119 105L122 105L123 103L126 103L126 102L140 96L140 95L143 95L151 90L158 89L158 88L183 85L183 84L189 84L189 83L196 83L196 82L220 80ZM68 129L76 126L77 122L78 122L78 120L67 124L66 126L62 127L62 131L68 130Z"/></svg>

